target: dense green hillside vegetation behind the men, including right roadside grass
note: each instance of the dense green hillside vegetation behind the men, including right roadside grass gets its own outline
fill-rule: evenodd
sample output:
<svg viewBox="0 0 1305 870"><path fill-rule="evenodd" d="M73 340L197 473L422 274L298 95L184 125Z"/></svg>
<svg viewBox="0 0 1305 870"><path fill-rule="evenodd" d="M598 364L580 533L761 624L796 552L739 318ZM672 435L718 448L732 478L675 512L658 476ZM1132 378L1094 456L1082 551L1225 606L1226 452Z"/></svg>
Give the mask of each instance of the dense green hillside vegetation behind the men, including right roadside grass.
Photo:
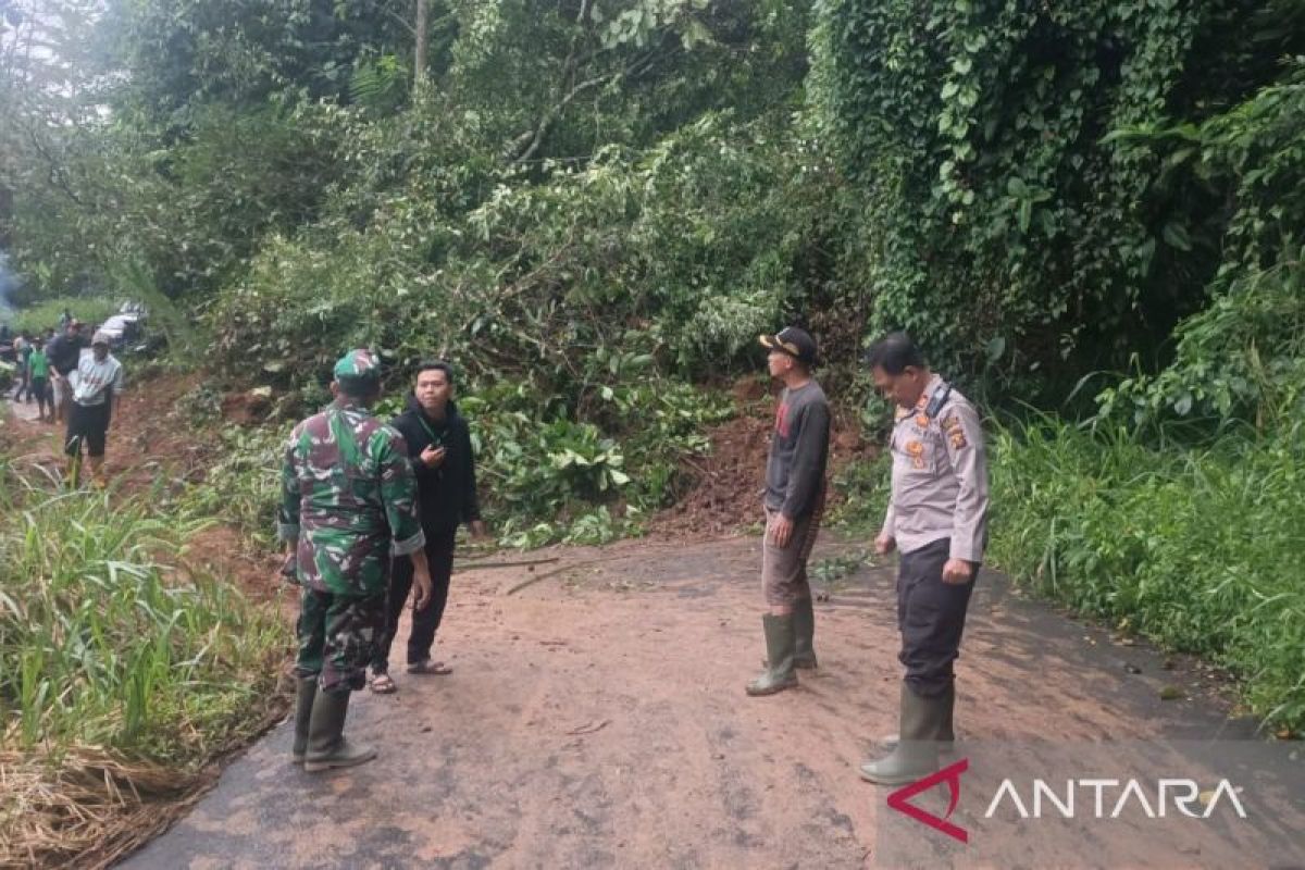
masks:
<svg viewBox="0 0 1305 870"><path fill-rule="evenodd" d="M193 313L283 417L347 346L445 355L517 544L672 500L758 331L810 326L855 406L906 327L1014 413L1004 565L1305 725L1298 4L4 5L59 47L0 60L14 301Z"/></svg>

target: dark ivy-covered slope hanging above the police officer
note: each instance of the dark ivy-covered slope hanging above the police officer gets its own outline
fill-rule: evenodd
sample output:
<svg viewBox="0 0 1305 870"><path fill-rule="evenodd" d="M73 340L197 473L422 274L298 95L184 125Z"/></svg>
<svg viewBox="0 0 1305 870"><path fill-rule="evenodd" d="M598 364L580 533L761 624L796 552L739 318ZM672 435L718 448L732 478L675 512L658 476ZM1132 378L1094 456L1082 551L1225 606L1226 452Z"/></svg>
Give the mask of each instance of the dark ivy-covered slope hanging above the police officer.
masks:
<svg viewBox="0 0 1305 870"><path fill-rule="evenodd" d="M1280 187L1300 179L1298 154L1279 155L1292 170L1259 164L1214 129L1253 120L1237 107L1291 80L1296 4L823 7L817 81L872 203L876 327L904 325L1007 377L1077 378L1134 353L1150 368L1248 247L1271 261L1298 240L1300 187ZM1238 217L1265 193L1276 209Z"/></svg>

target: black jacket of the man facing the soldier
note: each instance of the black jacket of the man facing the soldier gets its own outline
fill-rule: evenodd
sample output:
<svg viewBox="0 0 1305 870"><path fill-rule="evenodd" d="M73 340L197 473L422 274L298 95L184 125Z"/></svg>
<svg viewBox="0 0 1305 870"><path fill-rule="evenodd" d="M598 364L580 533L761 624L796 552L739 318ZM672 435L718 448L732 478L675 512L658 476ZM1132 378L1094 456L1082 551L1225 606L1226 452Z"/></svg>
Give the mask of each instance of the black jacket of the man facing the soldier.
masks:
<svg viewBox="0 0 1305 870"><path fill-rule="evenodd" d="M445 531L459 523L480 519L476 496L476 466L471 453L471 432L458 408L449 402L444 420L425 419L416 397L408 395L407 410L390 421L407 442L408 458L416 472L418 500L422 506L422 528ZM435 434L435 438L431 434ZM422 451L435 443L446 449L444 463L429 468Z"/></svg>

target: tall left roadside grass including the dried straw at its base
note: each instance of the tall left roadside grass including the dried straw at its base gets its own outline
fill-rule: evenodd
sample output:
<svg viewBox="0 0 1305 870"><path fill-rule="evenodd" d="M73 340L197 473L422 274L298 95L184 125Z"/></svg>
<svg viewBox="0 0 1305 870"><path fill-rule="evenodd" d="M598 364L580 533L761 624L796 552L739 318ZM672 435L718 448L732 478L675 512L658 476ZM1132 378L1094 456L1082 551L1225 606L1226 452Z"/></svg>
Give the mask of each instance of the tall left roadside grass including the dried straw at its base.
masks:
<svg viewBox="0 0 1305 870"><path fill-rule="evenodd" d="M59 492L0 457L0 779L22 784L0 800L0 863L30 858L33 837L55 861L140 836L115 819L140 827L159 783L184 789L278 703L283 621L180 567L202 523L155 503ZM77 771L85 759L103 772ZM64 785L111 811L78 810L89 798Z"/></svg>

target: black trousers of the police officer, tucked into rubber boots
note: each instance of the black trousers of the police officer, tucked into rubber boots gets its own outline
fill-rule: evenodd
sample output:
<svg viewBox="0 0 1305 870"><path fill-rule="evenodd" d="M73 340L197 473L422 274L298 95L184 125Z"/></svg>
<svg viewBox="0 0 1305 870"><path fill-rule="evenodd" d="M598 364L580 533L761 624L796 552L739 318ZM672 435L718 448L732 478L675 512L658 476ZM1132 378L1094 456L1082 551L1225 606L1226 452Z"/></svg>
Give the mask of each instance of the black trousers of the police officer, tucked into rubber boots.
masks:
<svg viewBox="0 0 1305 870"><path fill-rule="evenodd" d="M925 544L903 553L898 565L898 630L906 667L906 682L915 694L930 698L946 690L954 678L951 663L960 651L966 610L975 583L942 582L942 566L951 552L951 539ZM976 570L977 574L977 570Z"/></svg>

